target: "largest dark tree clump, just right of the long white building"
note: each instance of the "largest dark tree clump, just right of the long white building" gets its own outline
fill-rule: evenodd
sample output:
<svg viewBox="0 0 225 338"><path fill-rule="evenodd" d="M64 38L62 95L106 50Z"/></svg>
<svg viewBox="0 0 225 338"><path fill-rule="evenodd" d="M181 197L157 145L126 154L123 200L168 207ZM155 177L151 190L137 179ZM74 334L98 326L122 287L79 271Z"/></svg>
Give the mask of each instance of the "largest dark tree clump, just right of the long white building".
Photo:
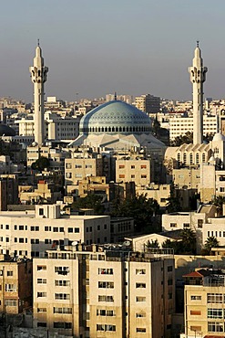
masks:
<svg viewBox="0 0 225 338"><path fill-rule="evenodd" d="M147 194L136 195L124 200L116 199L113 202L113 217L133 217L135 230L137 232L159 232L160 226L153 222L152 217L159 213L159 204L153 198L148 198Z"/></svg>

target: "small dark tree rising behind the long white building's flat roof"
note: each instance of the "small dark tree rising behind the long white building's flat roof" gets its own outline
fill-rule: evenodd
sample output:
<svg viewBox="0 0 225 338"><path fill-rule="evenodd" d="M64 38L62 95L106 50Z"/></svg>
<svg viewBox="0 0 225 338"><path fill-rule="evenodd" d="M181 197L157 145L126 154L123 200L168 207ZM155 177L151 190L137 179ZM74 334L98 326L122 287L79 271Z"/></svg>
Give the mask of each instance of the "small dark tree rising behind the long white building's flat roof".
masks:
<svg viewBox="0 0 225 338"><path fill-rule="evenodd" d="M79 197L72 203L72 209L93 209L95 215L103 215L105 212L105 206L102 204L102 197L95 194L88 194L85 197Z"/></svg>

